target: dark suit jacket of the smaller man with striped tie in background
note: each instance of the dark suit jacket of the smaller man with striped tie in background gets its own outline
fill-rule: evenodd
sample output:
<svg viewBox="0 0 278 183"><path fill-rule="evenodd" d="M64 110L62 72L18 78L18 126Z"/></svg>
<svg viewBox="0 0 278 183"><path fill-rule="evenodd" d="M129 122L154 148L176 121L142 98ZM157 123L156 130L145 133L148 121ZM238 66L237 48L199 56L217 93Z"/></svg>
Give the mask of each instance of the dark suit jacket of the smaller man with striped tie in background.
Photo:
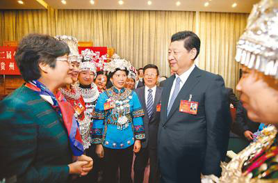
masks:
<svg viewBox="0 0 278 183"><path fill-rule="evenodd" d="M148 148L156 149L158 125L160 120L160 112L156 111L156 106L157 104L161 104L162 88L156 86L156 95L154 97L154 105L152 107L153 113L150 118L147 114L147 106L145 100L145 86L137 88L135 91L139 97L142 109L144 110L145 113L143 121L145 127L146 140L142 141L142 148L146 148L148 146Z"/></svg>

